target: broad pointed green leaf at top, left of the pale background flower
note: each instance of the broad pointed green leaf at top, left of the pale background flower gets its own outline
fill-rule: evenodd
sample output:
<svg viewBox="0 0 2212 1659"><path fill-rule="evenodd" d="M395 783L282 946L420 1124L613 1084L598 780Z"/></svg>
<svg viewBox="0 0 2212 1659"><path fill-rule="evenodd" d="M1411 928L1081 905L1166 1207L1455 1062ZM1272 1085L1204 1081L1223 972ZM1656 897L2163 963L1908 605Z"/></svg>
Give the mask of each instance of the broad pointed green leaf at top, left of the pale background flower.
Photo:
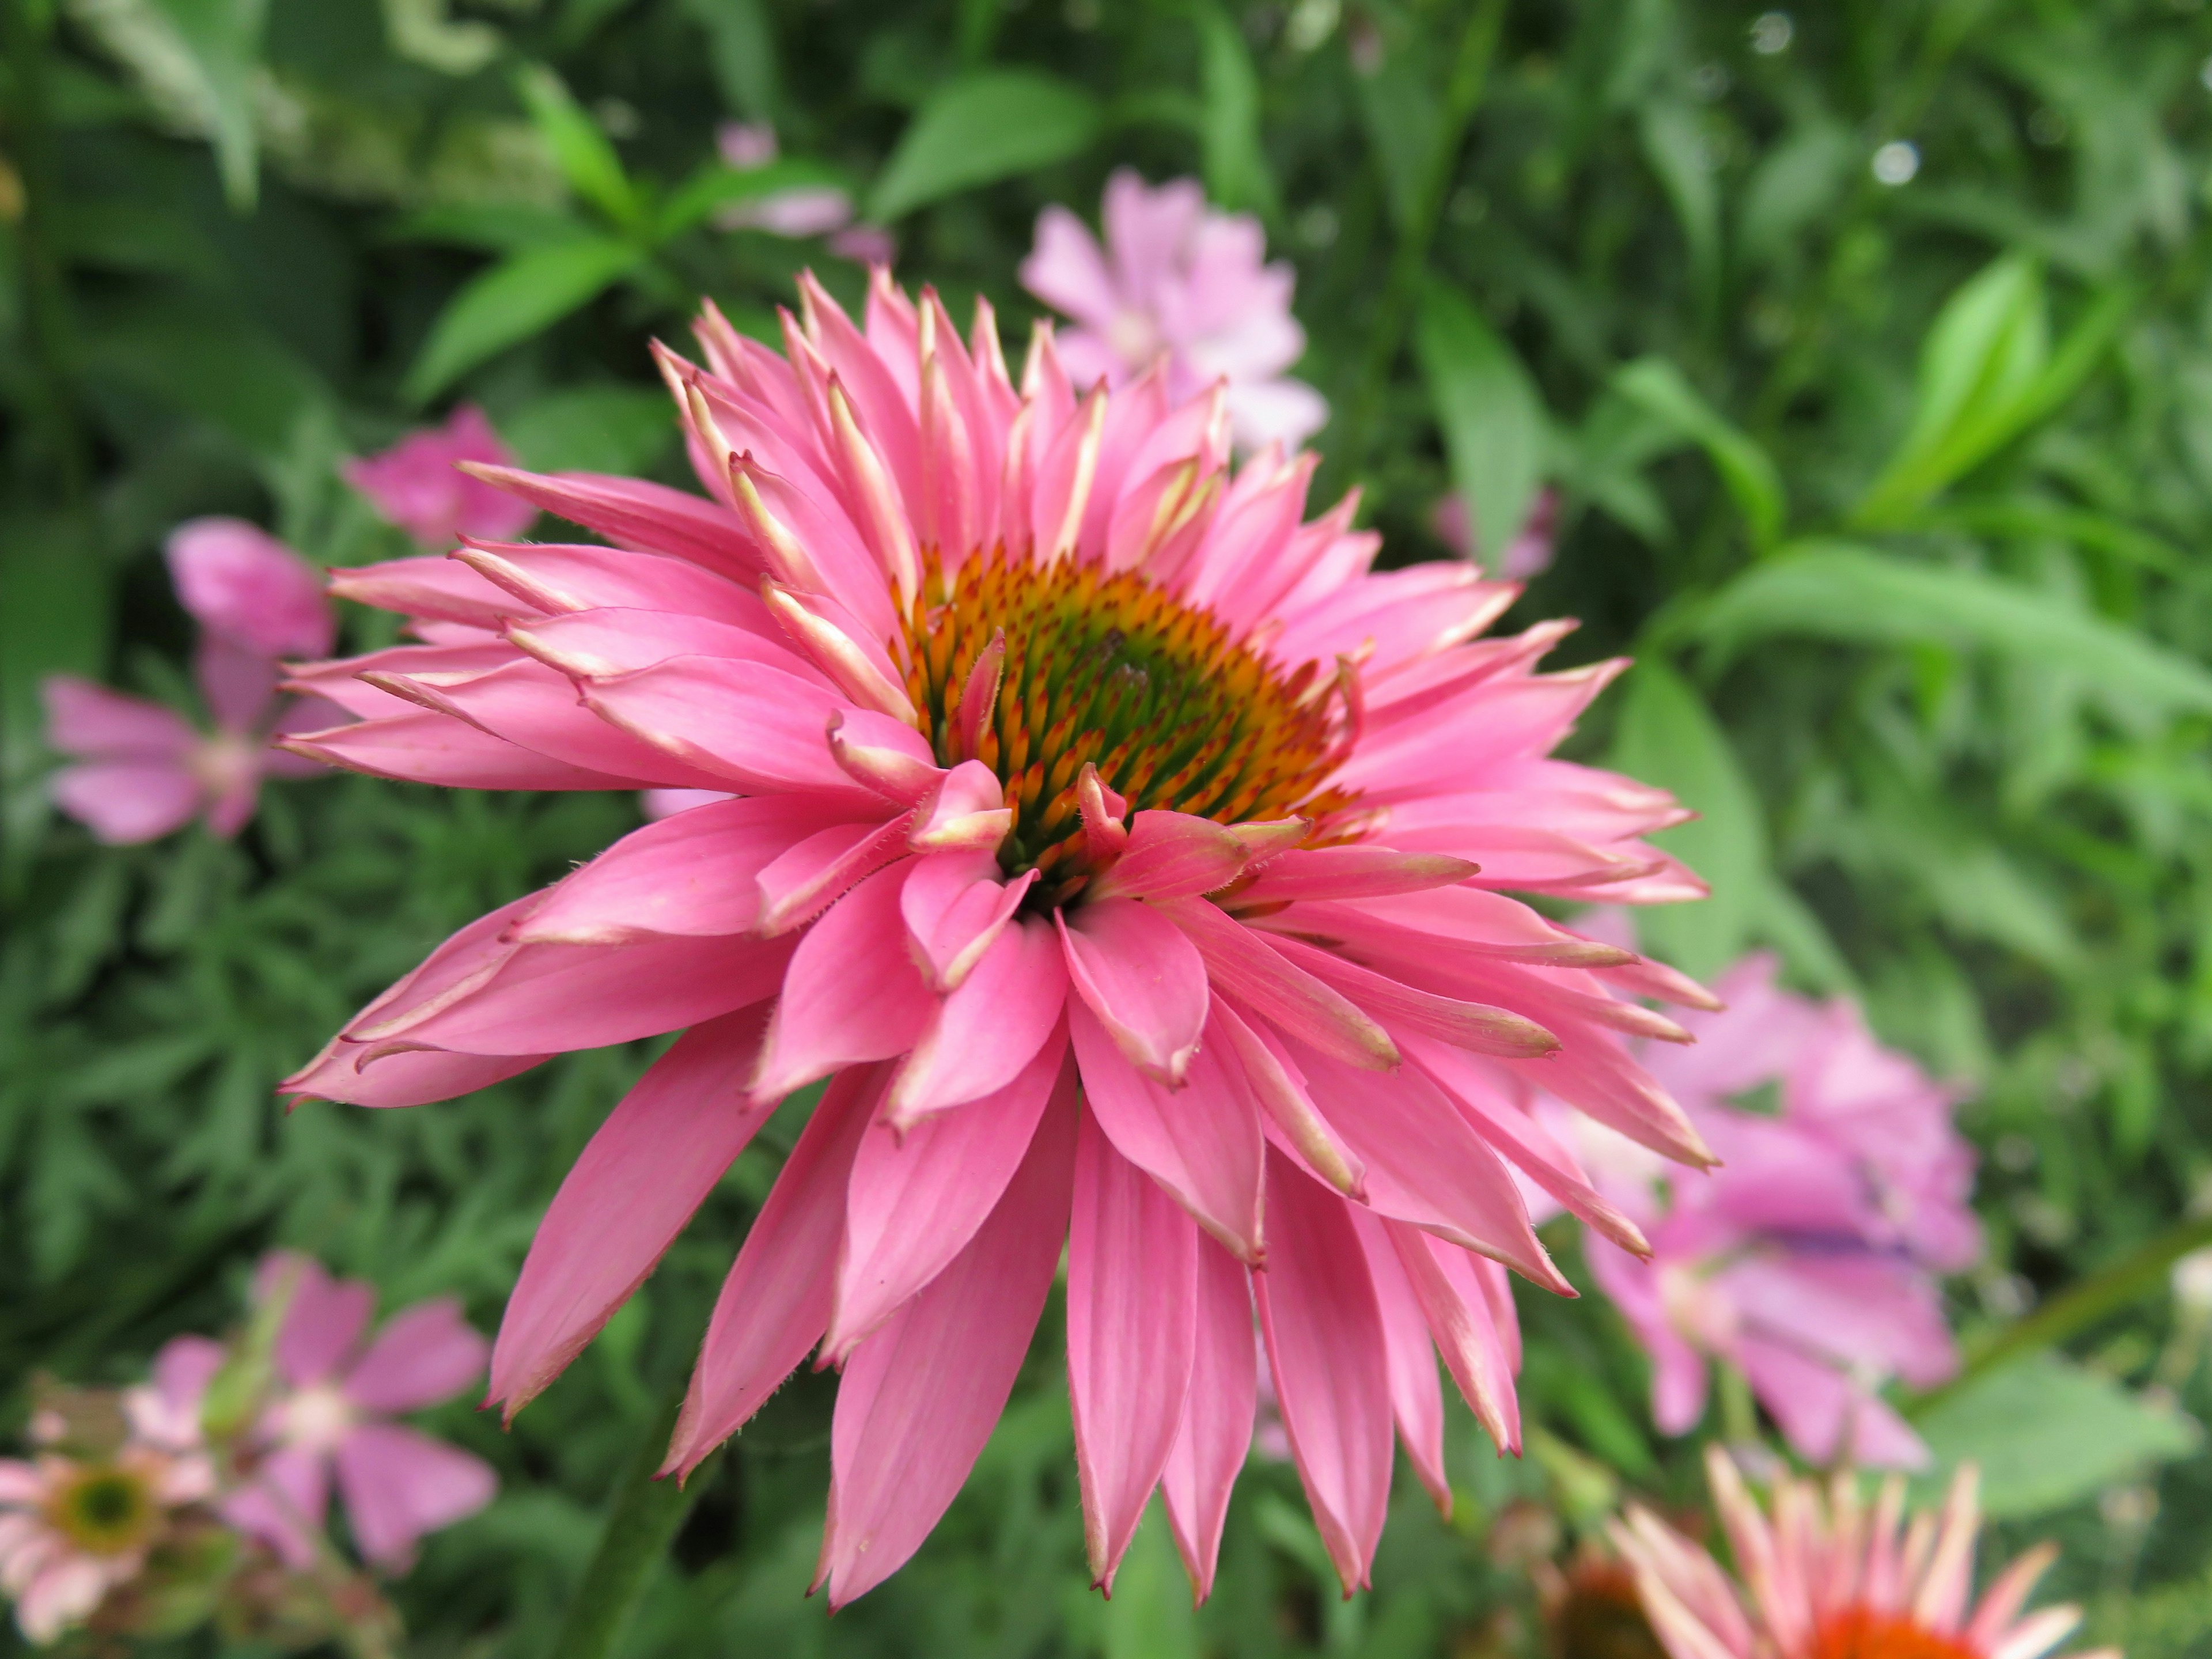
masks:
<svg viewBox="0 0 2212 1659"><path fill-rule="evenodd" d="M889 223L931 201L1066 161L1091 148L1099 106L1033 69L991 69L940 86L898 139L867 217Z"/></svg>

